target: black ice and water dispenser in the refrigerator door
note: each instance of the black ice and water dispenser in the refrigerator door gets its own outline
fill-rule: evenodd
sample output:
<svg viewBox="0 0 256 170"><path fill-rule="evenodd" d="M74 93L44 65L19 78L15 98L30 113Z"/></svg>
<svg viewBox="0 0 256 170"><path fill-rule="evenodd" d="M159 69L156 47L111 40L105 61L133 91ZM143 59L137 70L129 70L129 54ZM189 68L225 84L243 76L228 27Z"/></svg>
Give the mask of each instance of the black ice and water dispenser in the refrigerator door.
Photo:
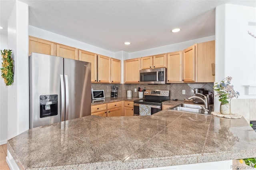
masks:
<svg viewBox="0 0 256 170"><path fill-rule="evenodd" d="M40 95L40 118L58 115L58 95Z"/></svg>

